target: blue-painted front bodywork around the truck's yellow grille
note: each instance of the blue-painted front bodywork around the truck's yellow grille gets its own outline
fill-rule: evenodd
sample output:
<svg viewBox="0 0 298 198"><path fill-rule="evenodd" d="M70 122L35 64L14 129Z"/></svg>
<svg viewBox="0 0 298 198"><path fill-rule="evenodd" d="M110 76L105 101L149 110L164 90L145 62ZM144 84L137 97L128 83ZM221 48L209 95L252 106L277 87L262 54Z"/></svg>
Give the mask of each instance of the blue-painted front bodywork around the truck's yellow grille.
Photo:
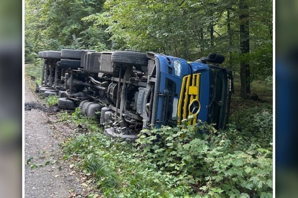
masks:
<svg viewBox="0 0 298 198"><path fill-rule="evenodd" d="M198 62L191 62L187 63L185 59L177 58L177 57L171 57L171 56L165 56L161 54L155 55L159 59L160 63L160 86L158 88L159 93L163 93L163 91L166 88L166 79L170 79L175 82L176 84L176 90L175 95L179 97L181 85L182 85L182 79L186 75L190 75L191 73L201 73L200 77L200 96L199 100L201 103L201 111L198 114L198 119L201 121L207 121L207 115L208 115L208 104L209 104L209 66L204 63L198 63ZM175 75L175 70L173 67L174 60L179 60L181 64L181 70L180 70L180 76ZM172 73L169 73L169 71L172 71ZM164 108L163 104L164 97L159 96L158 98L158 104L157 104L157 112L156 112L156 120L161 121L164 114ZM172 108L169 107L169 108ZM156 123L156 127L160 127L160 123Z"/></svg>

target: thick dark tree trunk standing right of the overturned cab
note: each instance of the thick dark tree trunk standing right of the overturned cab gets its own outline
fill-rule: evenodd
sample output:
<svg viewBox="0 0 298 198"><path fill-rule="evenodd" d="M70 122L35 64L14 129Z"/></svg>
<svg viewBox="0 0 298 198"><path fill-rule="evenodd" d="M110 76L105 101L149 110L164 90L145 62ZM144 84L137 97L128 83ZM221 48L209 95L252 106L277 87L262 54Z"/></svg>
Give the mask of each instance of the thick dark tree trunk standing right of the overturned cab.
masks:
<svg viewBox="0 0 298 198"><path fill-rule="evenodd" d="M247 98L247 93L250 93L250 70L249 62L244 58L249 53L249 13L246 0L239 0L239 30L240 30L240 50L242 58L240 60L240 78L241 90L240 96L243 99Z"/></svg>

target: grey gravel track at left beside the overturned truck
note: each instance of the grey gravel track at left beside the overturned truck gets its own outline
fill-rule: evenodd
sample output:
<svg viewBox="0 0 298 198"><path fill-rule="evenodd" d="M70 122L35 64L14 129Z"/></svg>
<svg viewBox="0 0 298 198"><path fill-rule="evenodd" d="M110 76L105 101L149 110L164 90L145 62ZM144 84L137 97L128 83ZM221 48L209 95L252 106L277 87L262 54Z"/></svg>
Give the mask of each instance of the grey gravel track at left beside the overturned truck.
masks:
<svg viewBox="0 0 298 198"><path fill-rule="evenodd" d="M27 78L25 104L38 103L28 84ZM44 111L25 111L25 197L72 197L72 191L81 191L76 174L60 159L60 140L56 139L57 131L49 119ZM31 160L27 165L28 159ZM31 169L32 165L38 167Z"/></svg>

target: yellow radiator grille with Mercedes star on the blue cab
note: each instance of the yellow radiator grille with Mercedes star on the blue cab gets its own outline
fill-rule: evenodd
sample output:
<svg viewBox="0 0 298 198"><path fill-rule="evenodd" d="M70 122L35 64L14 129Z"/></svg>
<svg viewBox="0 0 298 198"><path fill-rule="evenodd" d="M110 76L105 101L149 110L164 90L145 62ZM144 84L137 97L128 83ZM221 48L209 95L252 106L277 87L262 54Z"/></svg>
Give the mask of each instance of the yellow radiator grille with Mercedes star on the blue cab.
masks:
<svg viewBox="0 0 298 198"><path fill-rule="evenodd" d="M199 87L200 87L200 74L193 74L185 76L182 79L182 86L180 91L180 97L178 101L178 124L181 123L183 119L186 119L191 113L188 110L188 105L190 101L196 99L199 100ZM191 121L191 124L196 124L196 119L198 115L195 115Z"/></svg>

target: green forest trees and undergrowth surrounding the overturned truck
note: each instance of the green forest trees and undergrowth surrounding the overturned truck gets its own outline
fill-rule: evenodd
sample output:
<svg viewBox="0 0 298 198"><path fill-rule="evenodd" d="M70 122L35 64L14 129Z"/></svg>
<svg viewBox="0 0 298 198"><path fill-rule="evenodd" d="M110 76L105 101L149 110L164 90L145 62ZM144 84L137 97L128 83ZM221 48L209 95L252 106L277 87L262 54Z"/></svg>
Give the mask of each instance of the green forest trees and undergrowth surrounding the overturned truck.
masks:
<svg viewBox="0 0 298 198"><path fill-rule="evenodd" d="M118 163L140 166L139 176L123 164L119 167L129 172L125 177L110 173L104 183L95 176L102 196L273 196L272 0L25 0L25 62L40 69L39 51L61 49L133 49L187 61L217 52L225 56L221 66L233 71L235 92L225 130L187 126L182 132L188 130L188 135L181 141L179 127L165 126L152 134L162 135L170 142L166 145L142 135L133 146L110 142L118 148L110 151L115 156L119 149L130 149L118 159L103 150L107 140L98 134L66 142L67 156L86 154L80 156L85 173L96 172L90 167L99 163L96 154L78 146L86 141L94 141L102 149L94 152L112 161L109 171L117 170L113 166ZM82 118L74 112L61 113L60 119L78 123ZM197 137L196 127L212 132ZM156 172L146 172L142 160ZM151 182L144 181L147 177Z"/></svg>

